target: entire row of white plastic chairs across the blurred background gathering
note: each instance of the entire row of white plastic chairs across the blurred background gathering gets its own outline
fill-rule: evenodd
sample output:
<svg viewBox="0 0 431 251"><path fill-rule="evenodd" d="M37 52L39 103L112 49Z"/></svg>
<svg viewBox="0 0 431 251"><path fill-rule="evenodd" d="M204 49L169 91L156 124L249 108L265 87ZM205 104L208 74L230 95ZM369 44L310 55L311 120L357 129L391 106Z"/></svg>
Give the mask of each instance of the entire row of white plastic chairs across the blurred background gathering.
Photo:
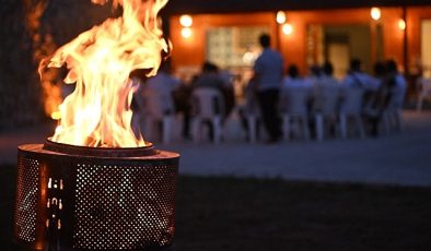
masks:
<svg viewBox="0 0 431 251"><path fill-rule="evenodd" d="M324 88L314 104L318 109L310 110L310 92L307 89L287 89L281 92L280 115L282 118L282 130L286 141L291 136L311 139L310 122L314 123L314 135L317 141L323 141L329 136L329 128L334 128L336 135L347 139L350 131L354 131L360 138L365 136L365 129L362 120L363 89L347 88L342 92L342 101L339 98L339 88ZM159 99L160 100L160 99ZM149 135L158 134L161 131L163 143L170 143L175 129L175 115L172 111L163 110L158 105L158 97L154 96L150 106L151 115L144 117L144 132ZM155 104L155 105L154 105ZM214 88L197 88L191 95L193 116L190 131L193 141L199 143L203 140L206 123L211 124L213 142L220 143L223 139L224 101L222 94ZM392 129L400 130L400 105L388 104L382 115L383 130L389 132ZM256 106L253 109L245 109L245 117L248 124L248 135L251 142L257 141L258 121L260 115ZM310 119L314 121L310 121ZM329 127L330 125L330 127Z"/></svg>

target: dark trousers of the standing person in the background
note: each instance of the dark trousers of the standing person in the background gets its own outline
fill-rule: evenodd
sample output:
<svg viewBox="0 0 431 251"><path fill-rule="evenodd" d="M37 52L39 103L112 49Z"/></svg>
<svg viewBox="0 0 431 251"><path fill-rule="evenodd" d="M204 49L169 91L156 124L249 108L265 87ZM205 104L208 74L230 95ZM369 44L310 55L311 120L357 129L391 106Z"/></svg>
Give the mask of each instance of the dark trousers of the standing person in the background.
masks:
<svg viewBox="0 0 431 251"><path fill-rule="evenodd" d="M265 89L257 93L265 129L270 141L281 138L281 120L278 112L279 89Z"/></svg>

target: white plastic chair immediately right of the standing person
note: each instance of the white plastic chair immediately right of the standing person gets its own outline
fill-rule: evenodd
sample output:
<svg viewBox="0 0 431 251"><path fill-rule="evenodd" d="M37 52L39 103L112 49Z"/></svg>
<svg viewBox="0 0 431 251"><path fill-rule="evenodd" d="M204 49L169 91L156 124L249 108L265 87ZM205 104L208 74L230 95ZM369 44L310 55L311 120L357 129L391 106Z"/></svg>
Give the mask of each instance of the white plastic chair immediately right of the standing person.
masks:
<svg viewBox="0 0 431 251"><path fill-rule="evenodd" d="M282 115L282 130L284 140L290 140L291 132L299 132L301 124L303 139L310 139L308 130L308 88L282 88L280 94L280 109ZM296 130L292 130L295 125Z"/></svg>

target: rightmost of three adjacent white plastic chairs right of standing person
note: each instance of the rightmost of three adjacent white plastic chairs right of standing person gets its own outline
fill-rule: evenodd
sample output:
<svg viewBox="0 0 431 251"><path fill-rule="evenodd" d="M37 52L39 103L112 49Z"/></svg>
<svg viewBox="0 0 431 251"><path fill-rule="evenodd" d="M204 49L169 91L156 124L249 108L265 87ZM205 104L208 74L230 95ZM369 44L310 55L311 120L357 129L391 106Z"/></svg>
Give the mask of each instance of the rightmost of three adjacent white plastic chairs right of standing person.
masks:
<svg viewBox="0 0 431 251"><path fill-rule="evenodd" d="M362 88L347 87L343 89L343 103L339 112L339 129L342 139L347 138L349 118L354 120L354 125L360 136L365 136L365 130L361 118L363 93L364 91Z"/></svg>

